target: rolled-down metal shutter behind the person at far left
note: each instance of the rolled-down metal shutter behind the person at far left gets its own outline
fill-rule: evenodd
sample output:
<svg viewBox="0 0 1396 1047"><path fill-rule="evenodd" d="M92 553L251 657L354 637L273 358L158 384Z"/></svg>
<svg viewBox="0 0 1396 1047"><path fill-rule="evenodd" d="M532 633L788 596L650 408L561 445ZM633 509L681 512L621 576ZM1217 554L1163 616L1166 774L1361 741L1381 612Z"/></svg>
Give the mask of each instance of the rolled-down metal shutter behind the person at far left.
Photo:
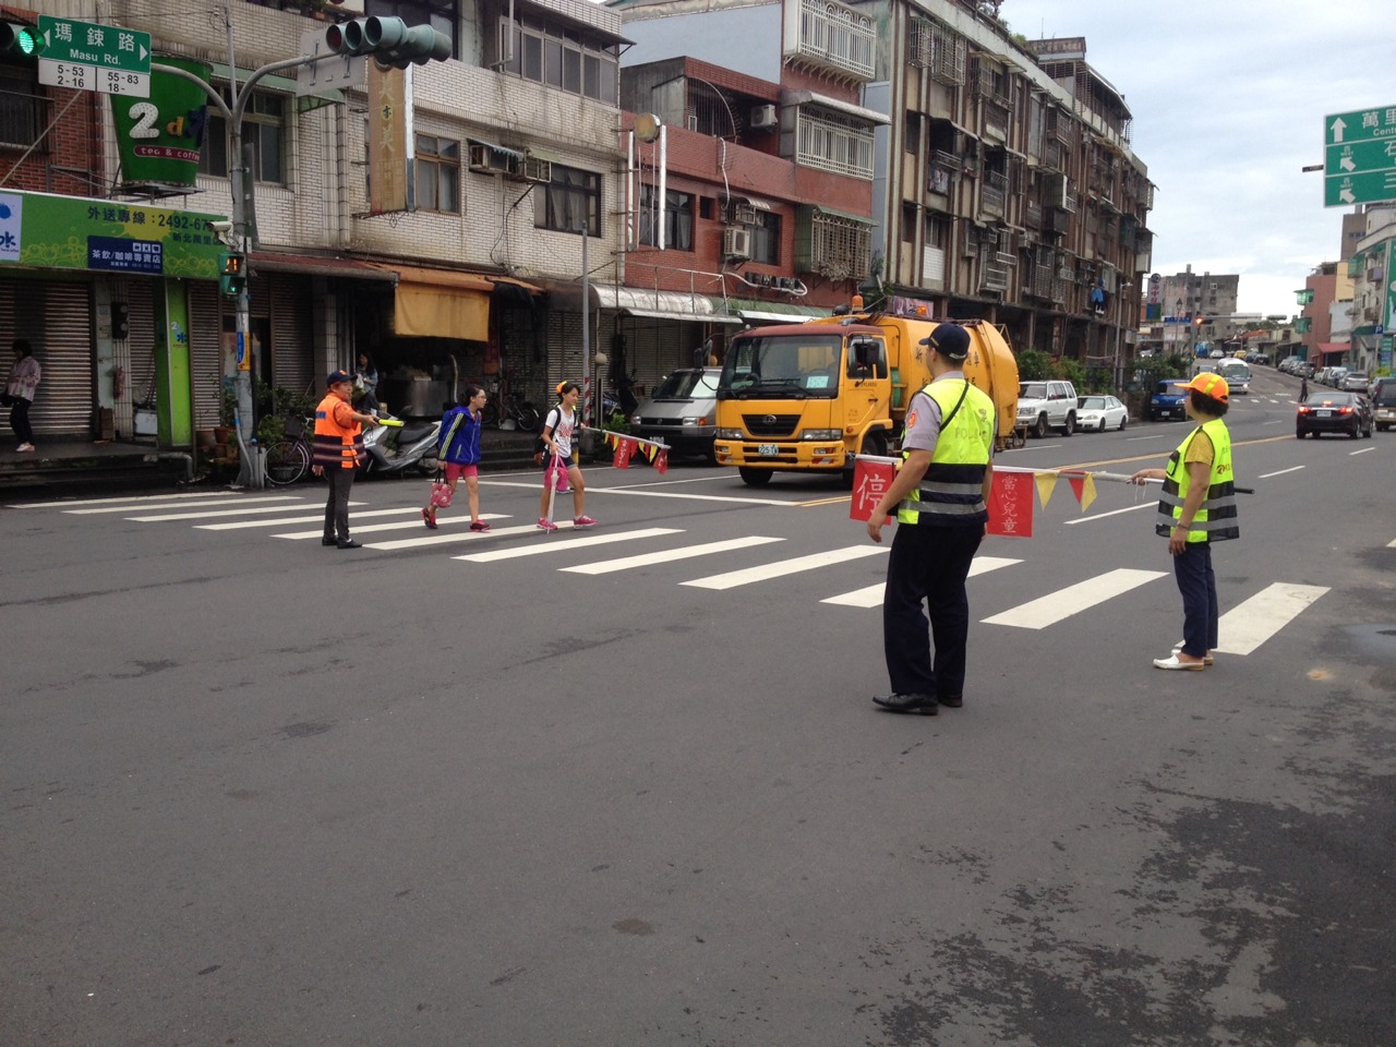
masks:
<svg viewBox="0 0 1396 1047"><path fill-rule="evenodd" d="M91 285L0 278L0 346L6 350L6 374L14 360L8 350L15 338L29 339L43 371L29 410L34 431L89 438L95 338ZM8 436L7 431L6 438Z"/></svg>

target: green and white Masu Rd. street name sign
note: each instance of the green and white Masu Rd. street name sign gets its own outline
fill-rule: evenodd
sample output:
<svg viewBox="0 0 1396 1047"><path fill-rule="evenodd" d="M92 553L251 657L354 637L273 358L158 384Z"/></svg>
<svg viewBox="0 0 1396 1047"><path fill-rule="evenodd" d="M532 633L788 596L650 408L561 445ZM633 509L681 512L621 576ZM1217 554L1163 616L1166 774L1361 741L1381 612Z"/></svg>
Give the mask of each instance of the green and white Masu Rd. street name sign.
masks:
<svg viewBox="0 0 1396 1047"><path fill-rule="evenodd" d="M39 82L103 95L151 96L151 35L39 15Z"/></svg>

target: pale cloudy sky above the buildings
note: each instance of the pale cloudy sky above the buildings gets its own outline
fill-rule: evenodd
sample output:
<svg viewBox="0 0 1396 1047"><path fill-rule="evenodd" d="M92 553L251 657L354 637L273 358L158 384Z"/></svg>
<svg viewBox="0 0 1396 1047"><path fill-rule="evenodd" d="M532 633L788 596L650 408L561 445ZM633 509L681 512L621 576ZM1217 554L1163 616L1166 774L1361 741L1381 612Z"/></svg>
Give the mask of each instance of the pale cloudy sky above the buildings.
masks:
<svg viewBox="0 0 1396 1047"><path fill-rule="evenodd" d="M1396 106L1390 0L1004 0L1027 39L1085 36L1125 96L1157 186L1154 272L1241 275L1242 313L1298 311L1342 250L1323 207L1323 117Z"/></svg>

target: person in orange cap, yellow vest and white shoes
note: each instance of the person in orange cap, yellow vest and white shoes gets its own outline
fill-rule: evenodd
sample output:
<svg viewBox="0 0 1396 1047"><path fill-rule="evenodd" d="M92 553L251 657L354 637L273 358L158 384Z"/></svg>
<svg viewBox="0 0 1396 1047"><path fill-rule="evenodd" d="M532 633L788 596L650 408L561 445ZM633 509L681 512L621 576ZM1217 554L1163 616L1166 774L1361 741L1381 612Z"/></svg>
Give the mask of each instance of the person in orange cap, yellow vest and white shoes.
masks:
<svg viewBox="0 0 1396 1047"><path fill-rule="evenodd" d="M1220 374L1202 371L1188 383L1184 403L1198 427L1184 437L1164 469L1141 469L1134 483L1163 480L1154 532L1168 539L1173 572L1182 593L1182 644L1156 669L1201 671L1217 646L1217 579L1212 543L1240 537L1231 473L1231 434L1222 417L1231 391Z"/></svg>

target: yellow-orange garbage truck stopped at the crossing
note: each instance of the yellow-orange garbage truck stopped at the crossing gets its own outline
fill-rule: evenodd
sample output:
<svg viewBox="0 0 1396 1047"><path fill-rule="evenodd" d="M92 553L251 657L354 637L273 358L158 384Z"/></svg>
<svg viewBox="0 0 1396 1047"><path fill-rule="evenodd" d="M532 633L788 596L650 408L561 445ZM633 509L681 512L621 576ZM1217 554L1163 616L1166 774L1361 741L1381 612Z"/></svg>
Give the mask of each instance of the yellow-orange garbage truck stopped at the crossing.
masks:
<svg viewBox="0 0 1396 1047"><path fill-rule="evenodd" d="M854 455L896 450L907 403L931 380L920 342L937 322L857 309L854 299L829 317L732 339L718 378L719 465L736 466L754 487L776 472L852 482ZM1005 441L1018 415L1018 360L993 324L956 322L970 338L965 376L994 401Z"/></svg>

